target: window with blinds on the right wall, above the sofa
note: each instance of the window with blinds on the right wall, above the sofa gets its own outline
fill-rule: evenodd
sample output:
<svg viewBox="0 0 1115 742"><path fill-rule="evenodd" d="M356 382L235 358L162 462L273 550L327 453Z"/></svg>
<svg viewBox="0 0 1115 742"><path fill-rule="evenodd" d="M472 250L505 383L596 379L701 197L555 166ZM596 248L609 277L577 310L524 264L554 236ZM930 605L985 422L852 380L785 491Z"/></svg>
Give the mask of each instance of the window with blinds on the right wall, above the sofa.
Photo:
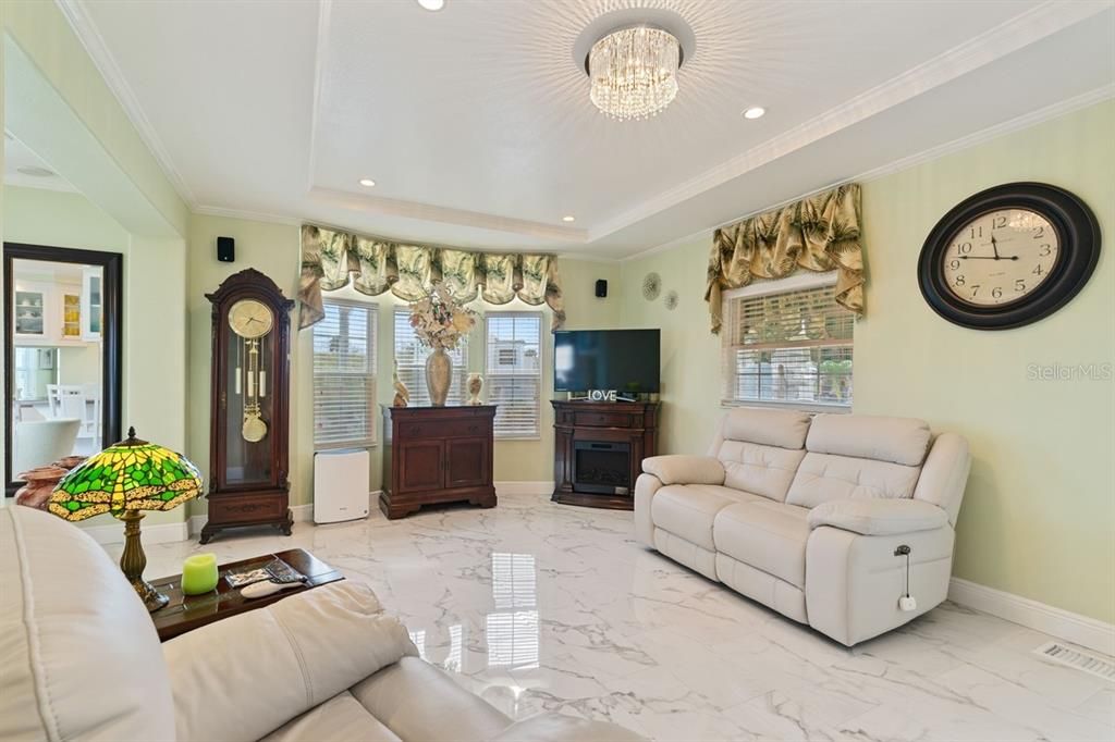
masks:
<svg viewBox="0 0 1115 742"><path fill-rule="evenodd" d="M852 406L854 314L835 273L747 286L725 297L726 404Z"/></svg>

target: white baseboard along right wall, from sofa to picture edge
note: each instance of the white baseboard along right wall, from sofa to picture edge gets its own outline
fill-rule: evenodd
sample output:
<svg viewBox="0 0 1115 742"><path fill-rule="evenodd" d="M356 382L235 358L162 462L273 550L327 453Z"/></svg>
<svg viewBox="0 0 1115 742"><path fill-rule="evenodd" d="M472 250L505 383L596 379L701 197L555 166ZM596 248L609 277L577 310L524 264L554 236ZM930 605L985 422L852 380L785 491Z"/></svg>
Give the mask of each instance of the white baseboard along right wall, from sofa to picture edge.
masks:
<svg viewBox="0 0 1115 742"><path fill-rule="evenodd" d="M1115 624L959 577L949 583L949 599L1108 656L1115 655Z"/></svg>

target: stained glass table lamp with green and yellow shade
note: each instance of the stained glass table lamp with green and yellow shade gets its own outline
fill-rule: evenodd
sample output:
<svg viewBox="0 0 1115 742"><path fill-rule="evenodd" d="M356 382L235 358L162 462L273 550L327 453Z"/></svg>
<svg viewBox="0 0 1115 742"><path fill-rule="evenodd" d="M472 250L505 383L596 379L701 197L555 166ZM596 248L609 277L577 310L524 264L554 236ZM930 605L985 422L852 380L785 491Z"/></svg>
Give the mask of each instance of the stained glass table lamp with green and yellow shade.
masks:
<svg viewBox="0 0 1115 742"><path fill-rule="evenodd" d="M124 521L120 569L148 611L167 598L143 578L147 556L139 541L139 521L146 510L172 510L202 491L202 476L186 457L136 438L115 443L70 471L50 495L49 510L67 520L112 512Z"/></svg>

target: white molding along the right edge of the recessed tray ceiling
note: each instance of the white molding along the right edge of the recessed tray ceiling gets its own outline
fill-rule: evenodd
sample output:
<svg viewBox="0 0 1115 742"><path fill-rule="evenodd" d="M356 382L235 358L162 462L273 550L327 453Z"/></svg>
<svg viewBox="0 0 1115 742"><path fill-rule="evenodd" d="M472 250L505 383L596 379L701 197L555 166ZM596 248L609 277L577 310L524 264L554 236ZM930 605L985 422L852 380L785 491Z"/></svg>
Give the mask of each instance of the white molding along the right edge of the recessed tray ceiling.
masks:
<svg viewBox="0 0 1115 742"><path fill-rule="evenodd" d="M991 28L783 134L683 180L589 232L595 242L876 116L1036 41L1105 12L1106 3L1054 0Z"/></svg>

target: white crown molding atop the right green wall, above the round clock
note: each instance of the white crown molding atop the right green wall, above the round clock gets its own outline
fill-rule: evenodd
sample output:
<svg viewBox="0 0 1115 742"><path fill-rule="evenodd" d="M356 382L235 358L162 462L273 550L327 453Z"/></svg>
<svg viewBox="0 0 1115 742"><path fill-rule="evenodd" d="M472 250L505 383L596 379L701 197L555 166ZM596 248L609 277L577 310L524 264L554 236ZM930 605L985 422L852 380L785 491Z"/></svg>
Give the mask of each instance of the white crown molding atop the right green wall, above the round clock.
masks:
<svg viewBox="0 0 1115 742"><path fill-rule="evenodd" d="M1109 100L1112 98L1115 98L1115 84L1108 84L1095 88L1093 90L1088 90L1087 92L1080 94L1078 96L1066 98L1065 100L1051 104L1049 106L1046 106L1045 108L1038 108L1037 110L1030 111L1029 114L1025 114L1022 116L1008 119L1000 124L996 124L995 126L989 126L987 128L980 129L979 131L975 131L972 134L962 136L958 139L947 141L935 147L930 147L929 149L923 149L920 153L915 153L908 157L895 159L893 162L888 163L886 165L881 165L870 170L865 170L859 175L854 175L847 178L842 178L836 183L828 183L826 185L821 186L820 188L814 188L812 191L807 191L803 194L794 196L793 198L787 198L786 201L776 204L769 204L767 206L764 206L763 208L757 208L755 211L741 214L739 216L734 216L727 222L721 222L716 226L700 230L699 232L694 232L683 237L678 237L676 240L665 242L660 245L655 245L653 247L648 247L647 250L640 251L631 255L627 255L619 260L620 262L634 261L641 257L647 257L649 255L655 255L657 253L663 253L668 250L672 250L673 247L678 247L680 245L695 242L700 238L710 240L712 237L712 233L723 226L727 226L728 224L735 224L740 219L750 218L756 214L762 214L764 212L779 208L787 204L792 204L795 201L807 198L813 194L821 193L823 191L828 191L830 188L835 188L836 186L843 183L869 183L871 180L878 180L879 178L886 177L888 175L901 173L902 170L910 169L911 167L917 167L918 165L922 165L924 163L939 159L947 155L951 155L953 153L958 153L963 149L969 149L970 147L983 144L985 141L997 139L1001 136L1006 136L1014 131L1028 129L1031 126L1037 126L1039 124L1044 124L1045 121L1049 121L1055 118L1060 118L1061 116L1072 114L1075 110L1080 110L1082 108L1088 108L1089 106L1094 106L1098 102L1103 102L1104 100Z"/></svg>

